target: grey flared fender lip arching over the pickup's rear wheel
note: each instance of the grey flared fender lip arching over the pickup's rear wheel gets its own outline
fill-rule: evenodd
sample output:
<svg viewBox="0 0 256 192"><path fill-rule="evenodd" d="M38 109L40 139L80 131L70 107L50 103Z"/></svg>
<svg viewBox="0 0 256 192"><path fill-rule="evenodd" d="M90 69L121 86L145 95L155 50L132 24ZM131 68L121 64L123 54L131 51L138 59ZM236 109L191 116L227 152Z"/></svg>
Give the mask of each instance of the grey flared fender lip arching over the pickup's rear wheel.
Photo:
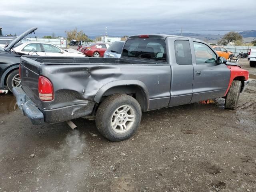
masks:
<svg viewBox="0 0 256 192"><path fill-rule="evenodd" d="M148 88L143 82L138 80L121 80L114 81L104 85L97 92L94 101L100 103L102 98L112 94L132 94L132 96L139 102L142 111L145 112L149 107Z"/></svg>

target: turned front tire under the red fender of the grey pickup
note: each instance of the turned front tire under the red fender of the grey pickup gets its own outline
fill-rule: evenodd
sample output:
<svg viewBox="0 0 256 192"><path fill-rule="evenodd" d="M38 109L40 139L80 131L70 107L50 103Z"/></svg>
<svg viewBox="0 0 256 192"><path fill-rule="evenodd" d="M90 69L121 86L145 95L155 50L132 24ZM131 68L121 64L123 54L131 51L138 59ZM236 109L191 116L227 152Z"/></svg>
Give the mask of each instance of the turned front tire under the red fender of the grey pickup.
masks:
<svg viewBox="0 0 256 192"><path fill-rule="evenodd" d="M232 109L232 110L236 109L240 91L241 91L241 86L242 86L241 81L233 80L233 82L228 90L228 94L226 96L225 108Z"/></svg>

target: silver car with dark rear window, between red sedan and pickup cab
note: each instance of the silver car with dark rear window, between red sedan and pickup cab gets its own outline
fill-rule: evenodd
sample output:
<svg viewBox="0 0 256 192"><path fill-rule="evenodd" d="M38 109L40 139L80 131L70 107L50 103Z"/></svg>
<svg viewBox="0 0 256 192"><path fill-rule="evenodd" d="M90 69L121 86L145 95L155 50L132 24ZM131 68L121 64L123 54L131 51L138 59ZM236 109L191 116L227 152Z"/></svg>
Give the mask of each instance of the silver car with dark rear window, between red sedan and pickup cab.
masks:
<svg viewBox="0 0 256 192"><path fill-rule="evenodd" d="M120 58L124 41L115 41L104 53L104 58Z"/></svg>

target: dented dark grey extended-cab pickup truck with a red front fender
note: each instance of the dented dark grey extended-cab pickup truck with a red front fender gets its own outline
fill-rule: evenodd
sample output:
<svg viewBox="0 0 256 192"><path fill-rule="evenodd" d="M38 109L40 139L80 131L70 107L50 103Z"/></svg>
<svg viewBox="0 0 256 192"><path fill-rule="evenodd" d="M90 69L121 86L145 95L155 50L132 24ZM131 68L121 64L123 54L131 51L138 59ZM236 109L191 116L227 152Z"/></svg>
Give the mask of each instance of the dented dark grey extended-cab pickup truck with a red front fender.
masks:
<svg viewBox="0 0 256 192"><path fill-rule="evenodd" d="M22 87L13 93L33 124L95 116L105 138L121 141L149 110L220 97L235 109L248 76L201 40L136 35L121 58L22 56Z"/></svg>

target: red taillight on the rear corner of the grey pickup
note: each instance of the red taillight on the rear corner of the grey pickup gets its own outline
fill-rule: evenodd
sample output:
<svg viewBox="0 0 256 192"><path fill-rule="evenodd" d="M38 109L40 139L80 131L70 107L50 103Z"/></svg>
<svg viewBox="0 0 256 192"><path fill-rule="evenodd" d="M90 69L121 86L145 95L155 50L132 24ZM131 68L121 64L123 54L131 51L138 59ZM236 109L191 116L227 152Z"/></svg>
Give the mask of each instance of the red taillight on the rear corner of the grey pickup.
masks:
<svg viewBox="0 0 256 192"><path fill-rule="evenodd" d="M42 101L52 101L54 99L53 86L50 80L44 76L38 78L38 93Z"/></svg>

